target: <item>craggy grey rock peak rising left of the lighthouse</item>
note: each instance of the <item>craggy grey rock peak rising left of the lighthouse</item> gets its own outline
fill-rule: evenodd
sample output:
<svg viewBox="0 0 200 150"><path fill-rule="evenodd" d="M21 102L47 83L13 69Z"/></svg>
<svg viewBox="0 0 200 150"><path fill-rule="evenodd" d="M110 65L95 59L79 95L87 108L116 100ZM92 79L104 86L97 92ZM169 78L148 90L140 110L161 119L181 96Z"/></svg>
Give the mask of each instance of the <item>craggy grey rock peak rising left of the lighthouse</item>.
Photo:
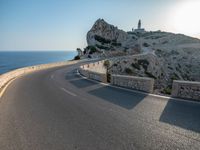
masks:
<svg viewBox="0 0 200 150"><path fill-rule="evenodd" d="M96 51L103 53L104 56L111 56L120 54L123 51L136 49L136 39L127 32L108 24L103 19L98 19L87 33L87 43L89 50L91 47L95 47ZM111 51L112 53L110 53Z"/></svg>

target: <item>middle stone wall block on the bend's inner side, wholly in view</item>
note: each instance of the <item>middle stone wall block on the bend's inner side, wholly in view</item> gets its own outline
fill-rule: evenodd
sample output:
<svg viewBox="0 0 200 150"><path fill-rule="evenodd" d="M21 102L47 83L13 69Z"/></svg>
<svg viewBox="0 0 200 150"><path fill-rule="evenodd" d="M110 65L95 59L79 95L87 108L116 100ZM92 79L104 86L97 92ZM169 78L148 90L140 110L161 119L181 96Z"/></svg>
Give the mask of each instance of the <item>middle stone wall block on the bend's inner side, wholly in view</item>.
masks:
<svg viewBox="0 0 200 150"><path fill-rule="evenodd" d="M111 84L152 93L154 86L154 79L147 77L111 75Z"/></svg>

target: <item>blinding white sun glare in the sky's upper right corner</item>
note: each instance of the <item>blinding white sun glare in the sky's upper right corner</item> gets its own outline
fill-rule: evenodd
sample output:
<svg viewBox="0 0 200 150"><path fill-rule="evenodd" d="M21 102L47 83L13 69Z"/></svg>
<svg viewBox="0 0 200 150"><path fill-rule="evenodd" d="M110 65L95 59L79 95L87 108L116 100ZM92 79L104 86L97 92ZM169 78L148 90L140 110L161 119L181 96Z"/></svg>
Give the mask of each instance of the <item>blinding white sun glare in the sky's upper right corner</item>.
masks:
<svg viewBox="0 0 200 150"><path fill-rule="evenodd" d="M200 33L200 1L183 2L172 12L174 29L185 34Z"/></svg>

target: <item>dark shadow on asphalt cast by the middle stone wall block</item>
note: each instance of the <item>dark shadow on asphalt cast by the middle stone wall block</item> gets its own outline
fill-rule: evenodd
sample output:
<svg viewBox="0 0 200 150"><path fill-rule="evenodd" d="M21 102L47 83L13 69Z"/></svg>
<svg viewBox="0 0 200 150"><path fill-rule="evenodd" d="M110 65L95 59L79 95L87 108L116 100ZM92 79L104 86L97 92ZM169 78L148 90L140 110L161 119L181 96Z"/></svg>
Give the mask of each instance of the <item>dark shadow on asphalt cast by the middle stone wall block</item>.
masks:
<svg viewBox="0 0 200 150"><path fill-rule="evenodd" d="M88 93L126 109L134 108L147 96L112 87L101 87Z"/></svg>

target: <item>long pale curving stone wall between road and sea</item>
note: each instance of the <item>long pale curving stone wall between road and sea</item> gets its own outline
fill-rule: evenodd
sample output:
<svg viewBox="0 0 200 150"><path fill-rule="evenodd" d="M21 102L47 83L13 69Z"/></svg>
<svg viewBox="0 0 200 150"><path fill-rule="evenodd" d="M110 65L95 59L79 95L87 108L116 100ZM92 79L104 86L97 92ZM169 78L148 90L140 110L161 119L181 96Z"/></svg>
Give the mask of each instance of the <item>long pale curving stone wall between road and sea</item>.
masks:
<svg viewBox="0 0 200 150"><path fill-rule="evenodd" d="M7 72L5 74L0 75L0 90L12 79L31 73L34 71L42 70L42 69L48 69L52 67L58 67L58 66L64 66L64 65L71 65L75 64L78 61L66 61L66 62L57 62L57 63L50 63L50 64L42 64L42 65L36 65L36 66L30 66L25 68L16 69L10 72Z"/></svg>

